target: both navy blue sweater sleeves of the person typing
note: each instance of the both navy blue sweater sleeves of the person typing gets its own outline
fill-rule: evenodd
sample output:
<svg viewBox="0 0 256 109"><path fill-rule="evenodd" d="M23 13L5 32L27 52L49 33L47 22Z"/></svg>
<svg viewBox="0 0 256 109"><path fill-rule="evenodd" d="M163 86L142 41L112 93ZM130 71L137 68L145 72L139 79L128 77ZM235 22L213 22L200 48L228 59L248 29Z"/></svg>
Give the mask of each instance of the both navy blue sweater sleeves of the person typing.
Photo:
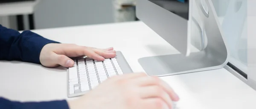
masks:
<svg viewBox="0 0 256 109"><path fill-rule="evenodd" d="M58 42L31 31L19 33L0 25L0 60L20 60L40 64L40 52L47 43ZM0 97L0 109L69 109L69 106L66 100L18 102Z"/></svg>

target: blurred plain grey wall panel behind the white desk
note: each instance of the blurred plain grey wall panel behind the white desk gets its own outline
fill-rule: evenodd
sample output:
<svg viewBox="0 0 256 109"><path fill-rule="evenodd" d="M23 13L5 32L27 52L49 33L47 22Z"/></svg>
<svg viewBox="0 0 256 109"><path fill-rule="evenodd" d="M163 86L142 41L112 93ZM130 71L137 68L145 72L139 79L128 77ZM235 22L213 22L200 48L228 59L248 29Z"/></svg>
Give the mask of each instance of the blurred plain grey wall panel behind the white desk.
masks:
<svg viewBox="0 0 256 109"><path fill-rule="evenodd" d="M35 28L113 23L112 0L41 0L35 9Z"/></svg>

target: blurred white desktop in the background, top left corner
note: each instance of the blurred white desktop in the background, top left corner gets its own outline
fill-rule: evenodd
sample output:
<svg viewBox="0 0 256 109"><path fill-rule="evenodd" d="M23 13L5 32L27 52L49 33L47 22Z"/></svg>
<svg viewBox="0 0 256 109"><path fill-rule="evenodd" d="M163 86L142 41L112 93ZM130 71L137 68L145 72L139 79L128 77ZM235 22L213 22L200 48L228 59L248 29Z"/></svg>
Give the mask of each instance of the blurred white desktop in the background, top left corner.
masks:
<svg viewBox="0 0 256 109"><path fill-rule="evenodd" d="M14 3L0 3L0 16L31 14L39 0Z"/></svg>

